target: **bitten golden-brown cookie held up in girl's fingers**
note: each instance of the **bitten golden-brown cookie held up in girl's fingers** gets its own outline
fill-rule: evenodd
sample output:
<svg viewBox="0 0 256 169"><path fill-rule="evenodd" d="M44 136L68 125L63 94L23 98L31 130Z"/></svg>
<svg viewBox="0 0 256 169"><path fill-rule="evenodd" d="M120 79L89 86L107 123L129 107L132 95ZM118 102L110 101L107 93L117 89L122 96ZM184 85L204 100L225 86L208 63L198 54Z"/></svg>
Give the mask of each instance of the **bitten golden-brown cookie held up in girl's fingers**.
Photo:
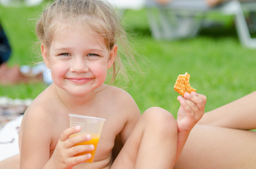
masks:
<svg viewBox="0 0 256 169"><path fill-rule="evenodd" d="M193 87L190 86L190 74L188 73L185 73L185 75L179 75L173 88L175 92L178 92L178 94L182 96L184 96L185 92L197 92L196 89L193 89Z"/></svg>

